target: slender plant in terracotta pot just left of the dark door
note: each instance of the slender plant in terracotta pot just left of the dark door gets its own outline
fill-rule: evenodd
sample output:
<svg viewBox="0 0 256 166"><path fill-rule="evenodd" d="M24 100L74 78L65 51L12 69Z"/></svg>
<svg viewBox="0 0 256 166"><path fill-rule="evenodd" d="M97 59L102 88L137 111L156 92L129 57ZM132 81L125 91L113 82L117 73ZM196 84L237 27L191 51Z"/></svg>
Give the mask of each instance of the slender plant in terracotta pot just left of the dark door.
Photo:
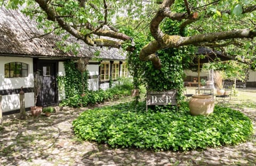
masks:
<svg viewBox="0 0 256 166"><path fill-rule="evenodd" d="M40 71L36 71L34 73L34 106L30 107L30 112L32 115L38 116L41 114L43 107L42 106L36 106L37 103L37 97L39 93L41 92L42 88L42 78L40 76Z"/></svg>

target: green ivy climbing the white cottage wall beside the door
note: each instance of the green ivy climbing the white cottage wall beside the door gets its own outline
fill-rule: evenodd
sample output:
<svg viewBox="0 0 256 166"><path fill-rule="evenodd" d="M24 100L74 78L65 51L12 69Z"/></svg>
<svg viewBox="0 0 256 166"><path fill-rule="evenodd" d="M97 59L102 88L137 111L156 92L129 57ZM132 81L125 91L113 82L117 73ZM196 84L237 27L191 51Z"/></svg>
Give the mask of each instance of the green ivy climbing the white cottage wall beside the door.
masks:
<svg viewBox="0 0 256 166"><path fill-rule="evenodd" d="M64 62L66 76L58 77L59 89L65 89L66 98L82 95L88 90L88 71L83 74L77 70L76 63L72 60ZM83 79L82 79L83 77ZM84 87L84 88L83 88Z"/></svg>

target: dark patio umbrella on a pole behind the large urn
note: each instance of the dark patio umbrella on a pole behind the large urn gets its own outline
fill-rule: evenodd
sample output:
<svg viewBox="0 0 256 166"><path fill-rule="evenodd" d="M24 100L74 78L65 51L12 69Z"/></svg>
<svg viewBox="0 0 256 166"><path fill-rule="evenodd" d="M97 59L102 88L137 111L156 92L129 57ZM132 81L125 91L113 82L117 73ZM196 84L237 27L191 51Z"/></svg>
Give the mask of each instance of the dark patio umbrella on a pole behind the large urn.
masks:
<svg viewBox="0 0 256 166"><path fill-rule="evenodd" d="M209 62L216 62L216 61L228 61L231 60L230 57L223 55L222 52L220 51L213 51L212 49L209 48L204 48L204 47L198 47L197 52L195 53L196 55L205 55L203 59L197 56L195 58L194 64L197 63L197 71L198 71L198 94L200 94L200 64L202 63L209 63Z"/></svg>

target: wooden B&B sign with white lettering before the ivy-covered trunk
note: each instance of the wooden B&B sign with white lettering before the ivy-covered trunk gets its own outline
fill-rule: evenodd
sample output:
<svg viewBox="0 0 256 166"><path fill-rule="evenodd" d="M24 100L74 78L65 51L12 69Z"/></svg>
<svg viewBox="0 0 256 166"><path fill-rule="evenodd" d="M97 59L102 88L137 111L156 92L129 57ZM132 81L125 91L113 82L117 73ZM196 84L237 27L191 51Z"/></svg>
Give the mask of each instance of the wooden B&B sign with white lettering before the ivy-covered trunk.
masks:
<svg viewBox="0 0 256 166"><path fill-rule="evenodd" d="M147 105L177 105L176 94L175 89L163 92L149 91L147 92Z"/></svg>

